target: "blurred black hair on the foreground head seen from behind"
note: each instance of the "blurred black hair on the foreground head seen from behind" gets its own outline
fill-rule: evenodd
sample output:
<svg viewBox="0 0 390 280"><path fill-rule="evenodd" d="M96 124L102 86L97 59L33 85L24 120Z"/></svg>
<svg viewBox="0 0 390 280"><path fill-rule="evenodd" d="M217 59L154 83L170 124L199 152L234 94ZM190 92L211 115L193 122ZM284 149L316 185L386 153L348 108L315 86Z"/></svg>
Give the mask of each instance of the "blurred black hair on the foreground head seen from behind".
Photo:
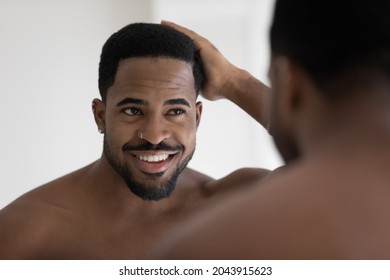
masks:
<svg viewBox="0 0 390 280"><path fill-rule="evenodd" d="M276 0L270 42L319 87L351 71L389 76L390 1Z"/></svg>

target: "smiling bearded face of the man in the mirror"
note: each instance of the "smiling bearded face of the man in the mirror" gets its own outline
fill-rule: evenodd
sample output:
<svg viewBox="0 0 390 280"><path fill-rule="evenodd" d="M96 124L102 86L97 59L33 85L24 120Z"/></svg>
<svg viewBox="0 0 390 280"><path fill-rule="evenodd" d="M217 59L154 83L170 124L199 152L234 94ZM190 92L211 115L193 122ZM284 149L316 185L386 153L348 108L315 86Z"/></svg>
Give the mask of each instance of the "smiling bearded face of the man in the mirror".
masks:
<svg viewBox="0 0 390 280"><path fill-rule="evenodd" d="M194 153L200 115L189 63L123 60L107 92L104 155L141 198L168 197Z"/></svg>

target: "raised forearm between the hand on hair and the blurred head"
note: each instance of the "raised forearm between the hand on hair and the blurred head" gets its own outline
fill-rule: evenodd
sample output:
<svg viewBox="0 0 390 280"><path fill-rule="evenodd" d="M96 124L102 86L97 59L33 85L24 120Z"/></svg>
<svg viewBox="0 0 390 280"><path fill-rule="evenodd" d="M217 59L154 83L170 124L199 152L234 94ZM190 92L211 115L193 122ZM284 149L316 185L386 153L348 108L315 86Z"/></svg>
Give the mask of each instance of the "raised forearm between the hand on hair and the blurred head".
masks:
<svg viewBox="0 0 390 280"><path fill-rule="evenodd" d="M221 93L267 129L271 96L269 87L247 71L237 68Z"/></svg>

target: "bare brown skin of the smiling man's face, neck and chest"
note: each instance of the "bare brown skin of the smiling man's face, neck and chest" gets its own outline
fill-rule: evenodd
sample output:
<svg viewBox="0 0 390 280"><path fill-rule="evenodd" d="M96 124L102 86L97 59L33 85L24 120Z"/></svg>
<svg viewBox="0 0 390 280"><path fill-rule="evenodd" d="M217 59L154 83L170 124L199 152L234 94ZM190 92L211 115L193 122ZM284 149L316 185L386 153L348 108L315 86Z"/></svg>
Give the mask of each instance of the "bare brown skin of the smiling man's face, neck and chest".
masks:
<svg viewBox="0 0 390 280"><path fill-rule="evenodd" d="M126 98L144 102L121 102ZM159 188L193 151L201 106L196 102L189 64L137 58L121 63L106 102L95 99L93 113L114 158L125 164L136 180L147 182L147 188ZM165 151L122 150L126 143L146 141L165 141L183 149L163 163L137 156L161 156ZM152 176L153 172L163 175ZM244 178L249 185L267 174L267 170L242 169L214 180L185 168L168 198L148 201L129 190L103 154L96 162L32 190L0 211L0 258L148 259L168 230L235 195L238 190L231 182Z"/></svg>

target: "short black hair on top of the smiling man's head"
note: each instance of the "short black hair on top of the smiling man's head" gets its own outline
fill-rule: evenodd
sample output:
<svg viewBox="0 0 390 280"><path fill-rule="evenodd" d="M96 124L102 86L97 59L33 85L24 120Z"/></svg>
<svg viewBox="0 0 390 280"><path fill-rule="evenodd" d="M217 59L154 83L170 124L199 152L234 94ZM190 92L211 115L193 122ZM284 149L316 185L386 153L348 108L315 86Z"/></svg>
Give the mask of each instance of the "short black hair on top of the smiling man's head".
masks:
<svg viewBox="0 0 390 280"><path fill-rule="evenodd" d="M133 23L112 34L103 46L99 63L99 91L103 101L114 84L119 62L131 57L166 57L190 63L196 96L199 95L204 73L192 39L160 24Z"/></svg>

